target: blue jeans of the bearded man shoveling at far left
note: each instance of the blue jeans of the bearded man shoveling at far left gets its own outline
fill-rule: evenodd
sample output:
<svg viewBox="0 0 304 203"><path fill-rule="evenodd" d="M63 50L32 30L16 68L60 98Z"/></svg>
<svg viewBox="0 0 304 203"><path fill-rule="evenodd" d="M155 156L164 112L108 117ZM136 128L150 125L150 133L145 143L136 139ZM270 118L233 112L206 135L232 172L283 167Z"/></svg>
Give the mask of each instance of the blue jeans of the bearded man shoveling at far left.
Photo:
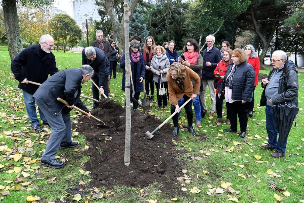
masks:
<svg viewBox="0 0 304 203"><path fill-rule="evenodd" d="M23 100L25 103L26 112L27 112L27 115L29 116L29 120L31 121L31 125L39 124L40 122L37 118L35 99L34 99L33 95L27 93L24 90L22 90L22 93L23 93ZM47 118L43 115L43 113L39 107L38 107L38 111L40 114L40 118L43 121L43 124L46 124Z"/></svg>

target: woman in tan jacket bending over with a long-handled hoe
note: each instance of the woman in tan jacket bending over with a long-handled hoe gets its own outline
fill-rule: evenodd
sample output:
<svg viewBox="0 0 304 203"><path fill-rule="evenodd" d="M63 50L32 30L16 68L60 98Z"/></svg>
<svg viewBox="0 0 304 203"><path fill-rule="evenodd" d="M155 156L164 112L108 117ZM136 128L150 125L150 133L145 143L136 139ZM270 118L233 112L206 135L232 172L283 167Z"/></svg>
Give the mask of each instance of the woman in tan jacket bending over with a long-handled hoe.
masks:
<svg viewBox="0 0 304 203"><path fill-rule="evenodd" d="M181 63L172 63L169 67L167 75L168 80L168 92L171 103L171 114L175 111L179 113L181 108L178 105L178 100L184 98L185 101L192 99L195 100L197 94L199 94L199 86L200 86L200 78L197 73L191 70L189 67L182 65ZM194 80L194 86L192 84L192 80ZM188 102L185 105L185 110L187 113L188 120L188 131L195 135L195 131L192 126L193 112L192 112L192 102ZM178 125L178 115L175 114L172 117L174 130L173 137L177 137L179 132Z"/></svg>

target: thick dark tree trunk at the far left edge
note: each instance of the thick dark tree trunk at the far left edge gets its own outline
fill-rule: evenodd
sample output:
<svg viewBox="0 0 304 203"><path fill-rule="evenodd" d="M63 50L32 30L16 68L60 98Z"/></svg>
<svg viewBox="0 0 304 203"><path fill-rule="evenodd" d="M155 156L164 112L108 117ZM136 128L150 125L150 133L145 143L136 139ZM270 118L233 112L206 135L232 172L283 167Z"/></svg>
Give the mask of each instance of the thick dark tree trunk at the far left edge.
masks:
<svg viewBox="0 0 304 203"><path fill-rule="evenodd" d="M11 60L22 51L16 0L2 0L5 30Z"/></svg>

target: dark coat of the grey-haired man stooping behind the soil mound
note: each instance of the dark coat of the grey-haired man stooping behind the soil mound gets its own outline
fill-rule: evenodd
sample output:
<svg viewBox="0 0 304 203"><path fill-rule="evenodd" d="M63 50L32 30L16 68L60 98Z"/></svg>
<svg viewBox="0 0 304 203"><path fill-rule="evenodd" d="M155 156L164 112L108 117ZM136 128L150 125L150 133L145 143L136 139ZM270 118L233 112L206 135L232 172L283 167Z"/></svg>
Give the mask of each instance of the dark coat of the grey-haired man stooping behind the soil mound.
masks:
<svg viewBox="0 0 304 203"><path fill-rule="evenodd" d="M90 65L94 69L94 74L92 77L97 75L99 78L98 86L104 86L104 82L108 81L108 76L110 75L110 63L105 53L97 48L93 47L96 51L96 58L94 61L88 59L85 55L85 48L82 50L82 65Z"/></svg>

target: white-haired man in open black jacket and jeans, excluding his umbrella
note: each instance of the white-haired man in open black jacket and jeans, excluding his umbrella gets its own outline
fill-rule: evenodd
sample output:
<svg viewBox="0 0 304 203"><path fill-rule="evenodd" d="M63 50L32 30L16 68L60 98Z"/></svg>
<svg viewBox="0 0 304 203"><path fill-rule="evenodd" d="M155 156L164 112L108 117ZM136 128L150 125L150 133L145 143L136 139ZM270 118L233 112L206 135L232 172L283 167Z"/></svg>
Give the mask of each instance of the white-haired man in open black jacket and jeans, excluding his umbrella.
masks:
<svg viewBox="0 0 304 203"><path fill-rule="evenodd" d="M272 106L285 102L293 103L298 107L299 82L298 69L295 64L287 59L284 51L275 51L271 56L272 69L268 78L262 79L264 88L260 106L266 106L266 130L268 134L268 145L259 145L263 149L276 150L272 157L281 158L285 156L287 139L281 147L277 140L278 126Z"/></svg>

